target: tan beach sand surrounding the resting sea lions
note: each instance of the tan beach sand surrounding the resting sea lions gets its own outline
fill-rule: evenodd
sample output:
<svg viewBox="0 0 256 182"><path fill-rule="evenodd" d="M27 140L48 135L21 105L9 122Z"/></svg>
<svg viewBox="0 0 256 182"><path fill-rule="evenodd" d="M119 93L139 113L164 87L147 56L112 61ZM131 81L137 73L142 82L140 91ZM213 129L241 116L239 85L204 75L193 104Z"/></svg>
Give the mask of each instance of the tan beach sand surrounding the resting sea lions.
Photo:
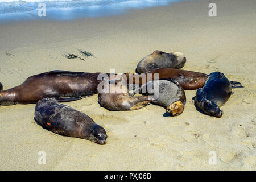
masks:
<svg viewBox="0 0 256 182"><path fill-rule="evenodd" d="M183 69L220 71L245 88L221 109L221 118L195 109L196 90L186 91L187 105L178 117L148 105L135 111L108 111L97 94L67 102L108 134L107 144L63 137L34 121L35 104L0 107L1 170L255 170L255 0L210 1L131 10L103 18L30 21L0 25L0 76L9 89L29 76L55 69L82 72L135 72L139 60L154 50L183 52ZM83 49L88 59L63 53ZM39 151L46 164L39 165ZM209 152L216 154L210 164ZM210 153L211 154L211 153Z"/></svg>

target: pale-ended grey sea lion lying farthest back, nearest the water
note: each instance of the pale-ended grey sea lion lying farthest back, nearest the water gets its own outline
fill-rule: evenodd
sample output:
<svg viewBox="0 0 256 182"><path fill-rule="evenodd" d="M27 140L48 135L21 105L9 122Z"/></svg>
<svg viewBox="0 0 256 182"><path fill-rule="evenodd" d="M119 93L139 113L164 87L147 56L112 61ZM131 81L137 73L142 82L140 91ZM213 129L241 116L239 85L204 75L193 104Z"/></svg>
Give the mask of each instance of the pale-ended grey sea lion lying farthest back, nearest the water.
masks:
<svg viewBox="0 0 256 182"><path fill-rule="evenodd" d="M182 68L185 63L186 57L181 52L154 51L139 61L136 71L147 73L157 68Z"/></svg>

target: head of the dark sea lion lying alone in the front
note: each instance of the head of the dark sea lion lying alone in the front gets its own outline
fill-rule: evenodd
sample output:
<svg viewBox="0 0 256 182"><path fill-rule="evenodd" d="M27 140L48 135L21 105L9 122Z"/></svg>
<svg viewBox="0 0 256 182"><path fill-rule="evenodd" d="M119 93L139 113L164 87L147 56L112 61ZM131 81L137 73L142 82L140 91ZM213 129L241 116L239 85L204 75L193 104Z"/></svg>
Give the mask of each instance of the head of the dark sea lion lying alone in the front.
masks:
<svg viewBox="0 0 256 182"><path fill-rule="evenodd" d="M106 144L106 135L105 129L97 124L94 124L90 129L89 140L98 144Z"/></svg>

